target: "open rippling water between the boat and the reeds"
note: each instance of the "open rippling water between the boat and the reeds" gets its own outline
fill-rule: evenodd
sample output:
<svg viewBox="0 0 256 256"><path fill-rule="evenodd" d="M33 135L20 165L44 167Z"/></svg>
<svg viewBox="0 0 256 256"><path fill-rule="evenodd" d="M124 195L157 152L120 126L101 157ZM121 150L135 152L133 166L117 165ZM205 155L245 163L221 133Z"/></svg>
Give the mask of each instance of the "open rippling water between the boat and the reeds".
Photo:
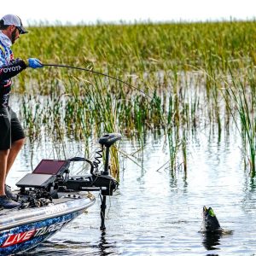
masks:
<svg viewBox="0 0 256 256"><path fill-rule="evenodd" d="M256 185L244 170L240 145L236 130L220 140L198 131L189 139L185 177L182 168L159 170L168 161L166 140L148 135L143 155L133 158L138 165L119 154L119 190L108 200L105 234L95 194L88 212L26 255L256 255ZM119 144L127 154L139 147L125 137ZM34 166L52 158L51 148L46 142L33 149ZM31 150L27 144L20 153L10 184L30 172ZM67 150L68 156L81 155L83 143L67 143ZM212 207L233 234L210 239L199 233L203 206Z"/></svg>

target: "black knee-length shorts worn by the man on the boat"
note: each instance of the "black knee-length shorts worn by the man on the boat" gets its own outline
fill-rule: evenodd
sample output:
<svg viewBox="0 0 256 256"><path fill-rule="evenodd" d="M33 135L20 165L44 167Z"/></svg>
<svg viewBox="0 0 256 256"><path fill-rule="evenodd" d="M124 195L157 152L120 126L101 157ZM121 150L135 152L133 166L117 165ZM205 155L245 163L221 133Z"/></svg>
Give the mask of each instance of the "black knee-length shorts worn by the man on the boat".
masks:
<svg viewBox="0 0 256 256"><path fill-rule="evenodd" d="M0 108L0 150L11 148L12 143L25 138L16 113L9 107Z"/></svg>

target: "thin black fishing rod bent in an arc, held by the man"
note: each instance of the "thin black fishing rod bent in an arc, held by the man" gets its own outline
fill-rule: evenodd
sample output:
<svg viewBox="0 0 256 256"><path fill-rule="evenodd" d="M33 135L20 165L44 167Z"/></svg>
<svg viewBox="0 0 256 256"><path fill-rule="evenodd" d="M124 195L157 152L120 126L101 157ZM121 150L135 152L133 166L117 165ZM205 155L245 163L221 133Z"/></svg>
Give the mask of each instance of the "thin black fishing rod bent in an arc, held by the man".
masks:
<svg viewBox="0 0 256 256"><path fill-rule="evenodd" d="M140 91L141 93L143 93L144 96L147 96L147 97L150 98L151 100L154 100L154 98L153 98L152 96L149 96L149 95L146 94L143 90L138 89L136 86L131 85L131 84L129 84L129 83L127 83L127 82L125 82L125 81L123 81L123 80L121 80L121 79L117 79L117 78L115 78L115 77L113 77L113 76L111 76L111 75L108 75L108 74L106 74L106 73L100 73L100 72L97 72L97 71L94 71L94 70L91 70L91 69L88 69L88 68L84 68L84 67L73 67L73 66L67 66L67 65L61 65L61 64L44 64L44 63L42 63L42 65L43 65L44 67L64 67L64 68L71 68L71 69L83 70L83 71L86 71L86 72L89 72L89 73L95 73L95 74L97 74L97 75L102 75L102 76L107 77L107 78L109 78L109 79L113 79L113 80L119 81L119 82L122 83L122 84L125 84L125 85L127 85L127 86L130 86L131 88L136 89L136 90Z"/></svg>

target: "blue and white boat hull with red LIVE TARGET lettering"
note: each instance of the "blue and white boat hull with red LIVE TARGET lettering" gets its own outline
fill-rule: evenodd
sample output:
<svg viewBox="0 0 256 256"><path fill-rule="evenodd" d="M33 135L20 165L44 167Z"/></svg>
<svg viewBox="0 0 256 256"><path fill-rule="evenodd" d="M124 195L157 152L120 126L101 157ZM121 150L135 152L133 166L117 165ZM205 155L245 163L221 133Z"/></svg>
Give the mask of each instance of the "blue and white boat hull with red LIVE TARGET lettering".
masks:
<svg viewBox="0 0 256 256"><path fill-rule="evenodd" d="M94 202L95 199L83 198L51 207L9 211L9 214L1 216L0 255L25 252L38 246Z"/></svg>

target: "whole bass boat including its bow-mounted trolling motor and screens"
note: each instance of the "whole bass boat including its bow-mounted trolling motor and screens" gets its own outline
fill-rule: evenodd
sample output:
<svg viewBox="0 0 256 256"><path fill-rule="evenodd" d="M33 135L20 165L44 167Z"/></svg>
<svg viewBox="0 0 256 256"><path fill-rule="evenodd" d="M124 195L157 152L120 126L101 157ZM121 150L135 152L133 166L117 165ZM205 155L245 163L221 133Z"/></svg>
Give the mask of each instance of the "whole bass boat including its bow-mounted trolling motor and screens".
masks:
<svg viewBox="0 0 256 256"><path fill-rule="evenodd" d="M90 191L100 192L101 230L105 230L106 197L118 188L118 182L108 172L109 148L120 138L118 133L102 136L102 148L94 161L82 157L41 160L32 173L22 177L16 183L19 190L15 191L21 206L0 210L0 254L25 252L49 239L95 203ZM104 170L100 172L103 154ZM70 177L73 161L89 163L90 175Z"/></svg>

